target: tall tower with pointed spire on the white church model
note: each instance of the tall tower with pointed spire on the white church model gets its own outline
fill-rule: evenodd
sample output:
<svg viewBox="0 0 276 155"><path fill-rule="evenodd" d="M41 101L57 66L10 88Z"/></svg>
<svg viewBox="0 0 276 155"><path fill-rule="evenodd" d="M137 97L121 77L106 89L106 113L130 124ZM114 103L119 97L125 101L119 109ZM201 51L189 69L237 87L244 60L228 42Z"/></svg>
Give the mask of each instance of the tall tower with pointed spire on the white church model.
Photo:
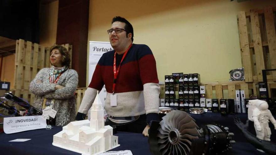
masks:
<svg viewBox="0 0 276 155"><path fill-rule="evenodd" d="M90 128L94 129L95 131L104 128L104 107L99 98L98 92L90 112Z"/></svg>

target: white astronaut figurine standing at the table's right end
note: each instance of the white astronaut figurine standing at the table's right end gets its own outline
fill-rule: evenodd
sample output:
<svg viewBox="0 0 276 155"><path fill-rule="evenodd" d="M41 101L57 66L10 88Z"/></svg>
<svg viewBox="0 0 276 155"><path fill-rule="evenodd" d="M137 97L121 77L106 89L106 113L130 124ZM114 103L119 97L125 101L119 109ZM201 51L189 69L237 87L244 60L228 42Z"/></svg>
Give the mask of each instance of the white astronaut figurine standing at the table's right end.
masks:
<svg viewBox="0 0 276 155"><path fill-rule="evenodd" d="M256 130L257 138L270 141L271 130L268 126L269 120L276 129L276 121L268 110L268 103L262 100L253 100L255 108L252 111L252 120Z"/></svg>

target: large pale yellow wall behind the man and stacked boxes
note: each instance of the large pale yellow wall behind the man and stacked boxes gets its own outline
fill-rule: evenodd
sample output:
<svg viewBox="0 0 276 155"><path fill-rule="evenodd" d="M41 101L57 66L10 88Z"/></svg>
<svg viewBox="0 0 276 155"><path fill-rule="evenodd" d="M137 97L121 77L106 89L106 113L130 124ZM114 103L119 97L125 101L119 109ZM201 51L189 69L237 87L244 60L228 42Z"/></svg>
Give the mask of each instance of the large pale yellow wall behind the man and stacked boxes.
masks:
<svg viewBox="0 0 276 155"><path fill-rule="evenodd" d="M111 19L122 16L134 27L134 43L151 48L160 81L183 72L199 73L202 83L226 82L241 67L238 12L268 5L276 1L90 0L88 41L109 41Z"/></svg>

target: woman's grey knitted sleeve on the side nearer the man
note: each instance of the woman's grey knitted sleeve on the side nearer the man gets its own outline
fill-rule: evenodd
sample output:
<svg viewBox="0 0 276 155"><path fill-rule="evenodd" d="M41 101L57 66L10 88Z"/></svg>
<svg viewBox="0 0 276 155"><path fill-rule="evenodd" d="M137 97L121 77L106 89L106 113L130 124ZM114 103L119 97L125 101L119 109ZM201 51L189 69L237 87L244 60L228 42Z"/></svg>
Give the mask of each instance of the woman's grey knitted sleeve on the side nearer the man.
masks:
<svg viewBox="0 0 276 155"><path fill-rule="evenodd" d="M64 88L57 89L45 95L48 99L59 99L65 100L74 96L78 84L78 74L75 70L70 70L68 72L68 77L66 78L66 85Z"/></svg>

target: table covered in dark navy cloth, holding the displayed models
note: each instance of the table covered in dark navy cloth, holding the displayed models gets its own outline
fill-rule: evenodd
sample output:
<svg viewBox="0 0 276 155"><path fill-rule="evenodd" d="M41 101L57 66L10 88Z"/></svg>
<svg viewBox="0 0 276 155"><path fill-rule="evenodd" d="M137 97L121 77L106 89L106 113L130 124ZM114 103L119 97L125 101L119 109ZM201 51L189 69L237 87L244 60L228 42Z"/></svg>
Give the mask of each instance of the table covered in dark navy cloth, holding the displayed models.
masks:
<svg viewBox="0 0 276 155"><path fill-rule="evenodd" d="M234 140L236 144L233 145L233 149L224 154L242 154L242 155L259 155L266 154L258 152L255 147L247 142L245 137L239 131L239 129L234 125L233 118L234 115L221 116L220 113L205 113L205 114L191 114L191 116L196 120L197 125L200 127L204 124L209 123L220 123L225 127L229 127L230 132L235 134ZM246 121L246 114L238 114L243 122ZM270 123L271 125L271 123ZM59 147L52 145L53 135L60 132L61 127L53 127L51 130L39 129L26 132L19 132L13 134L0 133L0 150L1 155L32 155L32 154L47 154L47 155L80 155L79 153L68 151ZM272 136L271 141L276 142L276 132L271 126ZM118 132L114 134L119 136L119 144L121 146L112 149L112 151L119 150L131 150L134 155L148 155L150 154L150 148L148 145L148 138L143 137L142 134L129 133L129 132ZM10 140L26 138L31 139L26 142L8 142Z"/></svg>

